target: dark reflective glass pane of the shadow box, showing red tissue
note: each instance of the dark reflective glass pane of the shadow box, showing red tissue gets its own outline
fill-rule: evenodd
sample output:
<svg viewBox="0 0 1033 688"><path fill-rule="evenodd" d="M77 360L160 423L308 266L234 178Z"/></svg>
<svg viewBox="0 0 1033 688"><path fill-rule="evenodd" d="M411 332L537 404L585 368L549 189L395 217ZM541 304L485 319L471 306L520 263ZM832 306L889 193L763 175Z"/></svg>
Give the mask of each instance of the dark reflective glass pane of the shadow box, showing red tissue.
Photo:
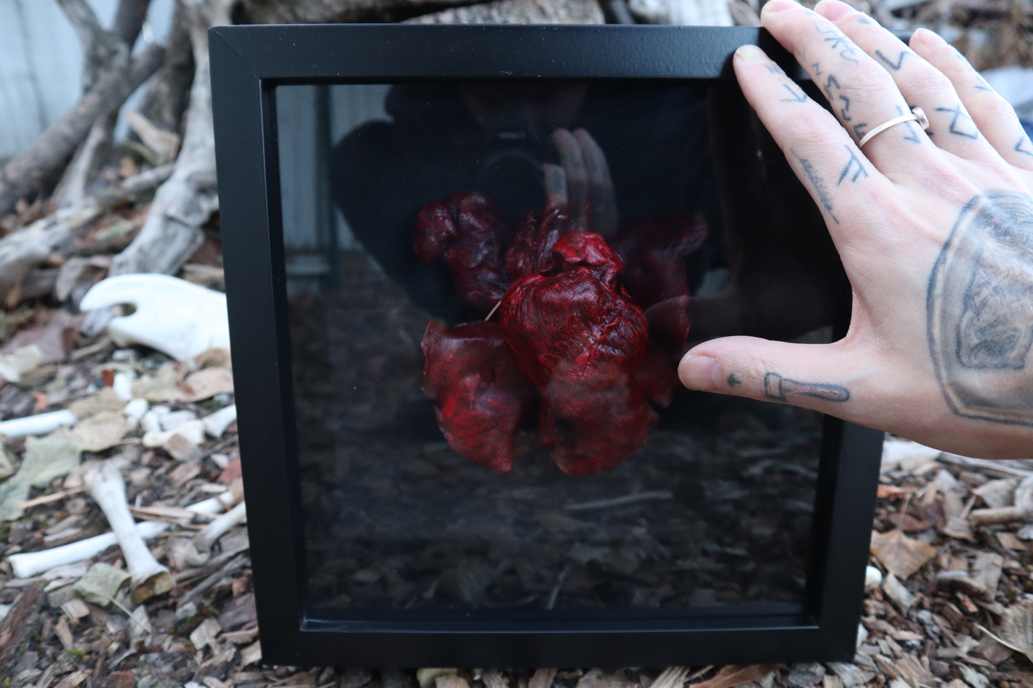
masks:
<svg viewBox="0 0 1033 688"><path fill-rule="evenodd" d="M738 98L277 89L314 607L801 604L821 417L676 375L832 331L820 217Z"/></svg>

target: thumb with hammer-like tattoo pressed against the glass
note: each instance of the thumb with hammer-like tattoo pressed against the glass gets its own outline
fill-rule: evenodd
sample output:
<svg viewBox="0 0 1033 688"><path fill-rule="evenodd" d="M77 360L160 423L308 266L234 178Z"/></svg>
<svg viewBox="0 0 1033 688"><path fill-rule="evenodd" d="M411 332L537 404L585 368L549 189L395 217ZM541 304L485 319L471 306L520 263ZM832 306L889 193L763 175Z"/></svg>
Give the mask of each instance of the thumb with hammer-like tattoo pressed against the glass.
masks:
<svg viewBox="0 0 1033 688"><path fill-rule="evenodd" d="M851 392L863 366L843 345L803 345L734 336L691 349L678 366L692 390L775 401L850 420L864 414Z"/></svg>

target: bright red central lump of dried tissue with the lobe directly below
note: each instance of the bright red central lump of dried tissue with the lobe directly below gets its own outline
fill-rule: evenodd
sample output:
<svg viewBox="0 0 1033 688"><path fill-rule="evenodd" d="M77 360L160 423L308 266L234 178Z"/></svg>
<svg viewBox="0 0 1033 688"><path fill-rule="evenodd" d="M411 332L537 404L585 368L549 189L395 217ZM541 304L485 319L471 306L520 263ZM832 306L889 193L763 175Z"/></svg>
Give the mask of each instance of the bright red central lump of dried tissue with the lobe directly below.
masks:
<svg viewBox="0 0 1033 688"><path fill-rule="evenodd" d="M539 441L566 473L613 468L657 422L635 379L646 316L617 285L620 257L598 234L559 237L562 270L513 283L500 308L506 343L541 395Z"/></svg>

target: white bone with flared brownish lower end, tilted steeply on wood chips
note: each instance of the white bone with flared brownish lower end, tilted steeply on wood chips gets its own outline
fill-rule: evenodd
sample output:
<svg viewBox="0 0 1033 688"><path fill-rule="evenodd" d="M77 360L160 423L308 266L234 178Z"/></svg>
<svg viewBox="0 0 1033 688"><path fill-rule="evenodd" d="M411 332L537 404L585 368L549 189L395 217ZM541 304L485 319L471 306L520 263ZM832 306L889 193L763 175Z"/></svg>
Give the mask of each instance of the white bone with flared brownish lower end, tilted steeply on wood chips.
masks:
<svg viewBox="0 0 1033 688"><path fill-rule="evenodd" d="M87 465L83 485L107 518L129 569L133 604L173 589L173 577L151 554L126 504L126 484L121 462L106 460Z"/></svg>

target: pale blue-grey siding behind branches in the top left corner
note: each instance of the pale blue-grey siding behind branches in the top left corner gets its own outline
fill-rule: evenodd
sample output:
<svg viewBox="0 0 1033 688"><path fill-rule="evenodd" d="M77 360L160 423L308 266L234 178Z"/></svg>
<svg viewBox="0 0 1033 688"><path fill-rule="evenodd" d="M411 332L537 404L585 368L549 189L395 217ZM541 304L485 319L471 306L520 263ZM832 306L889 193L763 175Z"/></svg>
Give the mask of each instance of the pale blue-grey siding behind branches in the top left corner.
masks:
<svg viewBox="0 0 1033 688"><path fill-rule="evenodd" d="M109 26L118 0L89 0ZM153 0L157 40L168 34L175 0ZM0 159L64 114L82 94L83 54L57 0L0 0Z"/></svg>

